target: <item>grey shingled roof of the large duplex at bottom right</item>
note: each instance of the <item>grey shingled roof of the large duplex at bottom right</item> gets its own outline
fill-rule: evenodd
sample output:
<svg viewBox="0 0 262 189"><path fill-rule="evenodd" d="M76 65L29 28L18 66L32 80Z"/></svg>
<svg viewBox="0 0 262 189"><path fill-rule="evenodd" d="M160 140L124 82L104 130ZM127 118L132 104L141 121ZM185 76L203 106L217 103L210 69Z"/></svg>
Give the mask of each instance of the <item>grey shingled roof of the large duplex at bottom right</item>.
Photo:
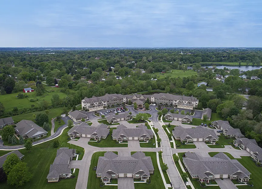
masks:
<svg viewBox="0 0 262 189"><path fill-rule="evenodd" d="M185 155L186 157L183 157L183 161L186 167L188 167L191 174L198 175L200 179L208 177L211 174L239 175L242 178L244 175L250 178L248 175L251 173L243 165L237 160L231 160L222 152L214 155L214 157L202 157L190 152L186 152Z"/></svg>

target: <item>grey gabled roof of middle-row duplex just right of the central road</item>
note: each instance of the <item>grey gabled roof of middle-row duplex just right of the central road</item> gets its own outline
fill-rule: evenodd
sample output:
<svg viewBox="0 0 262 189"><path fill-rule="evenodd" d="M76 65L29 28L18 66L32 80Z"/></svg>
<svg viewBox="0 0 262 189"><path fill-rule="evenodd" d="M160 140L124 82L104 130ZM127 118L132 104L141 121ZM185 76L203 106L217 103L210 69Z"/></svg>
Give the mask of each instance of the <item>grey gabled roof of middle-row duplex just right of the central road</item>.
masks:
<svg viewBox="0 0 262 189"><path fill-rule="evenodd" d="M175 137L180 137L182 140L187 136L191 138L207 138L210 137L210 140L218 140L218 136L216 135L214 130L203 128L201 126L197 126L196 128L184 128L181 126L174 127L172 131Z"/></svg>

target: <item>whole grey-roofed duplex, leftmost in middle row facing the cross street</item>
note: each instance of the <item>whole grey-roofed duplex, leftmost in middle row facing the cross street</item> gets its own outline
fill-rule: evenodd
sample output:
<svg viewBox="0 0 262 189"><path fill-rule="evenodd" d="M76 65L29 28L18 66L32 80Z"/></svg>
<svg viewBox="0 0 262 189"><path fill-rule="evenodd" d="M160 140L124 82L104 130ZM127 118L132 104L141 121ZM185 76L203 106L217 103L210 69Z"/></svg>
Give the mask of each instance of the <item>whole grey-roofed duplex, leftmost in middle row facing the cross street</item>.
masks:
<svg viewBox="0 0 262 189"><path fill-rule="evenodd" d="M75 137L90 137L95 140L105 139L109 134L109 130L106 124L101 123L97 127L90 126L85 122L75 125L68 132L68 136L71 138Z"/></svg>

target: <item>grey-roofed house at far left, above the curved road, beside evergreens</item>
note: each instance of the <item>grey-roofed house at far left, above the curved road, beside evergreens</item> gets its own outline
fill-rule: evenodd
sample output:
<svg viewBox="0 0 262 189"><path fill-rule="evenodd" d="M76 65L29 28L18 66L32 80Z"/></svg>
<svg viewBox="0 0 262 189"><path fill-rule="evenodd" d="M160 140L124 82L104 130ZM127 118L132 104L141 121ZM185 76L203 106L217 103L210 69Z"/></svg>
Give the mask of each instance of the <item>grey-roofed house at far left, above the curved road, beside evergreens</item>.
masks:
<svg viewBox="0 0 262 189"><path fill-rule="evenodd" d="M31 120L22 120L15 124L15 131L18 135L22 135L24 138L40 138L47 135L47 131L42 127L39 127Z"/></svg>

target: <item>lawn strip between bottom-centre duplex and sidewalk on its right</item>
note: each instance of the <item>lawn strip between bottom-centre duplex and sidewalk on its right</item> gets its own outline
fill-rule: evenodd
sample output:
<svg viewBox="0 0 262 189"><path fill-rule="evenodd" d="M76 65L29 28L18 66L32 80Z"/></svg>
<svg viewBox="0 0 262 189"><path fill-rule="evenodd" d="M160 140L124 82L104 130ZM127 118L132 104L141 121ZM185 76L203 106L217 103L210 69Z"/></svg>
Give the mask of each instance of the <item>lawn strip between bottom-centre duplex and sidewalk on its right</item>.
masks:
<svg viewBox="0 0 262 189"><path fill-rule="evenodd" d="M136 152L131 152L134 154ZM165 188L160 171L158 169L157 161L156 161L156 152L144 152L146 156L150 156L153 166L154 166L154 174L150 174L150 184L146 183L135 183L135 189L162 189Z"/></svg>

